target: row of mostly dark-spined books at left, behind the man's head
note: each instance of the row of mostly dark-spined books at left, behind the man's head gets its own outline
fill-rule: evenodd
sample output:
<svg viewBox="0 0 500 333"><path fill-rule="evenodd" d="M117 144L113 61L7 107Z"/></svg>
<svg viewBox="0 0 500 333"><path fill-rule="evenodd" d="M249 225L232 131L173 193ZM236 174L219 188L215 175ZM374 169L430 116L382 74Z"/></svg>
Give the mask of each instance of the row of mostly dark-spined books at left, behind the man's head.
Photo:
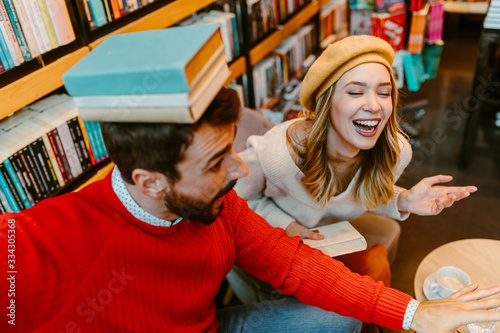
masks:
<svg viewBox="0 0 500 333"><path fill-rule="evenodd" d="M108 157L99 123L71 97L52 95L0 122L0 212L18 212Z"/></svg>

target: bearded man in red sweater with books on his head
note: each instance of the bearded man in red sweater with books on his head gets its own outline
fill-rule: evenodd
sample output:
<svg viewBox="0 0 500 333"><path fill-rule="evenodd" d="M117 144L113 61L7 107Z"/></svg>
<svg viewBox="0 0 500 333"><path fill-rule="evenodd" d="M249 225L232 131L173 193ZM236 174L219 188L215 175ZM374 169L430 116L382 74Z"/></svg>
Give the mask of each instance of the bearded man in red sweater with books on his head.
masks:
<svg viewBox="0 0 500 333"><path fill-rule="evenodd" d="M1 216L0 331L356 332L354 317L441 333L500 320L486 310L500 300L484 299L498 287L418 303L270 227L231 190L248 172L232 149L239 109L223 88L194 125L103 123L110 175ZM217 312L235 264L297 299Z"/></svg>

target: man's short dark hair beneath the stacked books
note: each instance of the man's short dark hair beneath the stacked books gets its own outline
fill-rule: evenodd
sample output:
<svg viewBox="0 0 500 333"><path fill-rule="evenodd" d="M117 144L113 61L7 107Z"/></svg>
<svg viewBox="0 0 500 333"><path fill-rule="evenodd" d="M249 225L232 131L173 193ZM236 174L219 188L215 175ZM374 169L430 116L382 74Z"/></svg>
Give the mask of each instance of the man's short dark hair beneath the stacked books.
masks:
<svg viewBox="0 0 500 333"><path fill-rule="evenodd" d="M134 183L132 171L136 168L160 172L175 182L180 178L177 164L184 158L196 130L203 123L236 123L240 108L236 91L222 88L195 124L104 122L102 136L109 157L127 183Z"/></svg>

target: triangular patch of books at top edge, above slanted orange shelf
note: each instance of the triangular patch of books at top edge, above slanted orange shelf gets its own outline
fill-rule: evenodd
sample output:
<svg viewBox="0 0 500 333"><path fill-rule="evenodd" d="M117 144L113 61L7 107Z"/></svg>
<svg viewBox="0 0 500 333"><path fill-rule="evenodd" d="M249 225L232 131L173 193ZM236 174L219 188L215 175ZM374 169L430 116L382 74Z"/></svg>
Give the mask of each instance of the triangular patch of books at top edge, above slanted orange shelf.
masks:
<svg viewBox="0 0 500 333"><path fill-rule="evenodd" d="M247 0L249 39L252 45L284 23L312 0Z"/></svg>

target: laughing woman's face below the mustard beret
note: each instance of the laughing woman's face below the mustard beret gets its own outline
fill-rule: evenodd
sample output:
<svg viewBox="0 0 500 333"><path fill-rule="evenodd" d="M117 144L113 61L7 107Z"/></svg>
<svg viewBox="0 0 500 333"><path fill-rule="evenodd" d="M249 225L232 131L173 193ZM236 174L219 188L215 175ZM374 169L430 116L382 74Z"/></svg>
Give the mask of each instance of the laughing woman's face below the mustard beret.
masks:
<svg viewBox="0 0 500 333"><path fill-rule="evenodd" d="M375 146L392 113L392 83L387 68L365 63L346 72L332 97L329 136L335 150L357 154Z"/></svg>

